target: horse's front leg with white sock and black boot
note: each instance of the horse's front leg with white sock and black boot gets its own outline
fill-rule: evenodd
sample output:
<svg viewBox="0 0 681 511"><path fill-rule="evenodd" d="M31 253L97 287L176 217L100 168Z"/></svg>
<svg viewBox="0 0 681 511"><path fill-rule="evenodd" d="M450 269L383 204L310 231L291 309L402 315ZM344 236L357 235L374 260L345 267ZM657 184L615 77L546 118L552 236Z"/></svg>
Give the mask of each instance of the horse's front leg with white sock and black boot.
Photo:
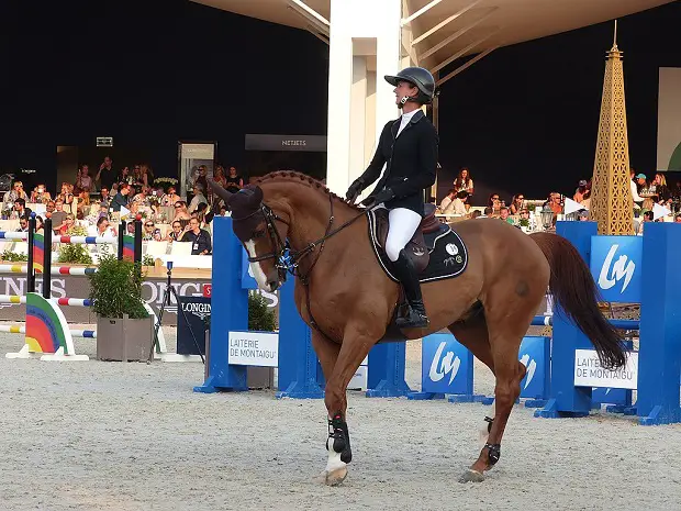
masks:
<svg viewBox="0 0 681 511"><path fill-rule="evenodd" d="M350 434L347 427L347 386L359 368L361 360L380 337L372 333L376 327L362 324L348 324L343 335L343 344L331 377L326 380L324 402L328 411L328 438L326 449L326 484L339 485L347 476L347 464L353 459Z"/></svg>

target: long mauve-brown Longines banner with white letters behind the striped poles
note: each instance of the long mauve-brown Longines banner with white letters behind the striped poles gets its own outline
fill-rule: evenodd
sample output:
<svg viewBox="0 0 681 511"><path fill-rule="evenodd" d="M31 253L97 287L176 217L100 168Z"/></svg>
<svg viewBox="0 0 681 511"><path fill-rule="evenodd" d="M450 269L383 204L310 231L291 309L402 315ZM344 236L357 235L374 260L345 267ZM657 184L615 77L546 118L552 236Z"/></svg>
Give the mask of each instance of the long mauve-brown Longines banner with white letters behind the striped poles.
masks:
<svg viewBox="0 0 681 511"><path fill-rule="evenodd" d="M178 296L181 297L202 297L203 285L211 284L210 279L174 279L172 287ZM42 282L36 282L37 291L42 291ZM158 314L163 302L164 292L167 288L165 278L149 278L142 284L142 297L152 306L152 309ZM259 291L267 300L267 306L277 308L279 304L278 292L269 293ZM0 277L0 295L25 295L26 277L3 275ZM63 277L54 277L52 279L53 298L88 298L90 293L90 282L87 277L75 277L65 275ZM225 307L230 307L228 303ZM277 308L278 309L278 308ZM97 323L96 314L87 307L63 307L66 321L69 323ZM1 303L0 320L2 321L24 321L26 318L26 307L19 304ZM166 306L163 316L163 324L177 324L177 301L170 298L170 306Z"/></svg>

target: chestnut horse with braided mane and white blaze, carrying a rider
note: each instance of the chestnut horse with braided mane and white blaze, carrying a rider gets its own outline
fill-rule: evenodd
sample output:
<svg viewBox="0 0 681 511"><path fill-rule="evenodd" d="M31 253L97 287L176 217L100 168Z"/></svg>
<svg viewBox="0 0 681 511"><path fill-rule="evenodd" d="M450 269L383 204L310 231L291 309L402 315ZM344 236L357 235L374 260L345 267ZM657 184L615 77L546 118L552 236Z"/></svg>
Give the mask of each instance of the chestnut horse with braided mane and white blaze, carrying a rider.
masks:
<svg viewBox="0 0 681 511"><path fill-rule="evenodd" d="M279 171L234 195L214 182L210 186L232 211L234 233L248 252L260 289L273 291L288 271L298 277L295 303L312 326L312 345L326 378L325 478L328 485L339 484L351 459L347 386L391 324L400 302L399 284L386 275L372 252L366 210L321 182ZM521 341L547 289L558 310L591 340L605 367L623 366L625 353L599 309L588 266L567 240L550 233L528 236L494 219L457 223L456 232L468 246L466 271L423 284L431 324L402 333L420 338L448 329L494 374L495 412L488 420L488 441L461 478L481 481L500 458L504 427L525 376L518 362Z"/></svg>

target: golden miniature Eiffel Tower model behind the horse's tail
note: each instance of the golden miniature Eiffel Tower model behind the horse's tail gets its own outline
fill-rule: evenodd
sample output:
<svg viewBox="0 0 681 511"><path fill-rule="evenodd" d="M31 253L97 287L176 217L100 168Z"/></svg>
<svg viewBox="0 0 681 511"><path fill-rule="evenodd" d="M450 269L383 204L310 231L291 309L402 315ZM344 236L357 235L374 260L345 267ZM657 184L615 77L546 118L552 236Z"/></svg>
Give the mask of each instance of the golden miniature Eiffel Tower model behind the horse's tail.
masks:
<svg viewBox="0 0 681 511"><path fill-rule="evenodd" d="M629 188L629 145L624 101L622 52L617 48L617 21L613 47L607 52L601 121L593 181L591 219L599 223L599 234L634 234L634 201Z"/></svg>

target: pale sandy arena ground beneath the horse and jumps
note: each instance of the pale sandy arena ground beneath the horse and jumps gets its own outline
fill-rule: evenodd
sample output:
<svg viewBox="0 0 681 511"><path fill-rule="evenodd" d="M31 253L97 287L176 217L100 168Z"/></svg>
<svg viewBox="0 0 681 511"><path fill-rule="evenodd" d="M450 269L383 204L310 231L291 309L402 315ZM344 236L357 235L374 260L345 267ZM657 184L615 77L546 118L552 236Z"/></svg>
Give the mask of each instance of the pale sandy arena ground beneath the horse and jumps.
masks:
<svg viewBox="0 0 681 511"><path fill-rule="evenodd" d="M175 329L166 327L170 351ZM0 355L21 347L0 334ZM633 419L534 419L516 407L501 462L482 484L489 407L368 399L349 392L354 460L345 484L326 460L321 400L273 391L198 395L203 366L0 358L0 509L11 510L661 510L681 509L681 425ZM420 388L420 343L408 382ZM476 391L491 393L476 366Z"/></svg>

